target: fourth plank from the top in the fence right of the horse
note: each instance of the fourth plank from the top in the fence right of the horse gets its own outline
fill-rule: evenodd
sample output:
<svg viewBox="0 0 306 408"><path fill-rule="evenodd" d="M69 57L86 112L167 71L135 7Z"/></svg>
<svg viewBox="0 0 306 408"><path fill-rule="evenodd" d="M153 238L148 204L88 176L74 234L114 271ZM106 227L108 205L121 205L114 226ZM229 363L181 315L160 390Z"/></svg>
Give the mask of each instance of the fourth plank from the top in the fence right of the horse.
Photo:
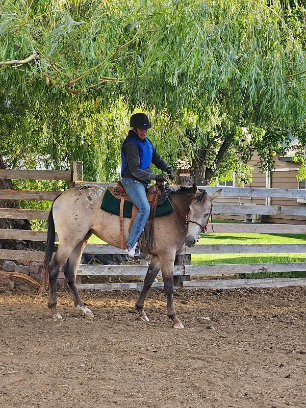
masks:
<svg viewBox="0 0 306 408"><path fill-rule="evenodd" d="M186 253L297 253L306 252L306 244L221 244L186 247Z"/></svg>

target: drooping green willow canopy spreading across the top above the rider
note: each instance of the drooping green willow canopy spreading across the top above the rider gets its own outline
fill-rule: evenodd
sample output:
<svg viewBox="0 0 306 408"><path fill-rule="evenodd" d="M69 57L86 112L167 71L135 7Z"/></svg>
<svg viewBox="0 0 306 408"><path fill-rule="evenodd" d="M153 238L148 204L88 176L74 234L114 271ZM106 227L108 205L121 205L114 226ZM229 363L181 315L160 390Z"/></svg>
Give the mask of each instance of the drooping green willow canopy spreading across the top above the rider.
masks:
<svg viewBox="0 0 306 408"><path fill-rule="evenodd" d="M304 118L306 59L282 4L3 0L0 80L11 98L67 93L105 111L120 99L169 118L209 181L226 155L251 150L242 126Z"/></svg>

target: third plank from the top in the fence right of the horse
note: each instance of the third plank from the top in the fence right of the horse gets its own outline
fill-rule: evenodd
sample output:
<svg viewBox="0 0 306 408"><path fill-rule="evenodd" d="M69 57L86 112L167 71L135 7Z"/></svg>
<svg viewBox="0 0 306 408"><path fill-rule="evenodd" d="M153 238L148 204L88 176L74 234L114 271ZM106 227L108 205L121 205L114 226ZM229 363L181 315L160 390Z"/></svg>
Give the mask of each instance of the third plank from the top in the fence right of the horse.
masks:
<svg viewBox="0 0 306 408"><path fill-rule="evenodd" d="M245 234L306 234L306 224L217 224L214 223L215 233L245 233ZM212 233L212 225L208 226L208 233Z"/></svg>

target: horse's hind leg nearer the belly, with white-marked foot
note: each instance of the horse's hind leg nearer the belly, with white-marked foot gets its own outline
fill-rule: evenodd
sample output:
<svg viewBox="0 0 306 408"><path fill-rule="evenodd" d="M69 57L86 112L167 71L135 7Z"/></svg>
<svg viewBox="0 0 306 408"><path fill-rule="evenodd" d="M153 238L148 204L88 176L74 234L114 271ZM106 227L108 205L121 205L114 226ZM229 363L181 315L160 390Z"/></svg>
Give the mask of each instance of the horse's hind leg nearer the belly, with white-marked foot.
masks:
<svg viewBox="0 0 306 408"><path fill-rule="evenodd" d="M75 276L77 275L77 270L82 258L83 250L90 236L91 233L88 233L86 237L81 242L79 242L79 244L73 249L64 269L64 274L68 281L68 286L73 298L74 306L79 311L81 311L82 315L85 317L94 317L94 315L90 309L86 308L81 299L77 285L75 284Z"/></svg>

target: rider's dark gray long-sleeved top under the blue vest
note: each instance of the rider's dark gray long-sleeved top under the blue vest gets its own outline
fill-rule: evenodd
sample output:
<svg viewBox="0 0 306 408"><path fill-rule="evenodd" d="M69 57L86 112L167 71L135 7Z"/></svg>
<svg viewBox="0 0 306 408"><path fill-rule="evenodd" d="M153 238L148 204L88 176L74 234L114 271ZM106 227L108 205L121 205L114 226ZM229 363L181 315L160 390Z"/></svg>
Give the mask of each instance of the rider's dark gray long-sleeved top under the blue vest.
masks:
<svg viewBox="0 0 306 408"><path fill-rule="evenodd" d="M129 136L144 142L133 131L129 132ZM145 184L150 184L151 180L155 180L156 174L152 173L150 169L141 170L139 148L136 143L132 141L125 143L123 146L123 151L127 161L127 166L122 177L129 177ZM171 166L163 160L154 146L152 151L152 163L162 171L172 169Z"/></svg>

